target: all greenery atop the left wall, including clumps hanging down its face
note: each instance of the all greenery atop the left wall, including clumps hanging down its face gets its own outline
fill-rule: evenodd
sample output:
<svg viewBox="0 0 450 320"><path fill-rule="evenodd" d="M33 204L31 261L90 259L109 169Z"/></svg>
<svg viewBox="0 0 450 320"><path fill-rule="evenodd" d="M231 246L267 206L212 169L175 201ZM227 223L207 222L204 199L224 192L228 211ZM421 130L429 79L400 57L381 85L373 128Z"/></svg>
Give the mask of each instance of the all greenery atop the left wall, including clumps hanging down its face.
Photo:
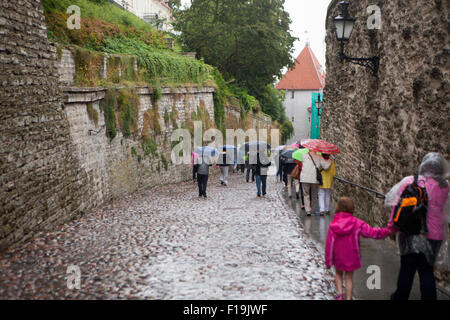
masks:
<svg viewBox="0 0 450 320"><path fill-rule="evenodd" d="M76 65L75 85L110 86L128 82L149 84L153 90L155 110L146 112L144 122L147 124L146 129L152 129L153 134L161 132L157 101L162 97L162 85L178 86L191 83L216 87L214 122L215 126L224 133L225 108L227 105L236 106L236 99L232 99L233 97L237 98L243 109L243 119L246 113L257 113L261 110L258 100L249 95L246 89L237 85L230 86L217 68L203 61L167 50L165 35L162 32L155 30L126 10L102 0L42 0L42 2L50 40L71 46ZM70 14L67 14L66 10L70 5L77 5L81 9L80 30L67 28L67 19ZM58 58L61 59L60 45L57 52ZM106 60L106 79L103 79L105 53L110 56ZM127 105L129 106L127 103L124 104L124 106ZM264 106L262 105L263 110ZM122 129L124 136L132 134L134 125L132 107L125 107L124 110L122 106L121 109L116 101L114 106L106 104L104 111L107 135L110 139L116 136L116 128ZM173 127L177 128L175 109L169 114L169 118ZM183 126L190 127L189 121ZM205 125L210 126L206 123Z"/></svg>

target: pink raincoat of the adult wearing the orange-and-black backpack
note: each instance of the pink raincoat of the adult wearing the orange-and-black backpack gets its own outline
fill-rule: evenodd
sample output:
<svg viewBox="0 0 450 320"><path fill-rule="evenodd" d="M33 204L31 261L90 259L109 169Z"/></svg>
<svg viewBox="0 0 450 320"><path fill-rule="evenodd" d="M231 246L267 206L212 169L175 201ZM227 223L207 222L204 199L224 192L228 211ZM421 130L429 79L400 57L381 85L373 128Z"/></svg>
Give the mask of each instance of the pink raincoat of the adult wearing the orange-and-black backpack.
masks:
<svg viewBox="0 0 450 320"><path fill-rule="evenodd" d="M414 176L409 176L404 178L401 181L401 186L397 193L397 199L402 194L405 188L414 182ZM419 176L418 185L421 187L425 187L428 193L428 211L427 211L427 225L428 225L428 235L427 238L431 240L444 240L445 229L447 227L445 221L445 213L444 207L447 201L449 187L441 188L439 187L439 183L431 177ZM392 221L394 216L394 207L391 211L391 217L389 219L388 227L392 228L395 231L398 231L395 228L394 223Z"/></svg>

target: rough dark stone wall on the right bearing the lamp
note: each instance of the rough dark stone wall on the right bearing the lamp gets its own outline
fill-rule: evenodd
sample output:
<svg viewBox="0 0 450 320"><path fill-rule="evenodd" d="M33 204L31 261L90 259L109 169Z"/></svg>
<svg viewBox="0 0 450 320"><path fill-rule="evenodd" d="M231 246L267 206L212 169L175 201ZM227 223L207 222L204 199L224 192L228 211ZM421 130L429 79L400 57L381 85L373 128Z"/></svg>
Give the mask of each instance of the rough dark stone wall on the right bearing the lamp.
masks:
<svg viewBox="0 0 450 320"><path fill-rule="evenodd" d="M350 1L358 18L348 56L381 58L378 78L369 69L339 59L333 17L327 15L327 79L322 138L341 147L338 176L386 193L403 176L418 171L423 156L441 152L450 159L449 2ZM368 30L366 8L381 8L382 29ZM335 183L335 196L351 195L358 214L385 225L383 201Z"/></svg>

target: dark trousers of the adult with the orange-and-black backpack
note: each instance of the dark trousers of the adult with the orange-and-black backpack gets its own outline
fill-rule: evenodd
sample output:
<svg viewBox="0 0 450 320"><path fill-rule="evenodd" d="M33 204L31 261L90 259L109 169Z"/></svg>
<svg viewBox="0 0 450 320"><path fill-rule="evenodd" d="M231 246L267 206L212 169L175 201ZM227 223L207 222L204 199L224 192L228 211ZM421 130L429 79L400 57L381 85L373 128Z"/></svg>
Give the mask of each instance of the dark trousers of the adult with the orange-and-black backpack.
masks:
<svg viewBox="0 0 450 320"><path fill-rule="evenodd" d="M433 266L428 263L423 253L412 253L401 256L397 291L391 296L392 300L408 300L416 271L419 272L422 300L437 299Z"/></svg>

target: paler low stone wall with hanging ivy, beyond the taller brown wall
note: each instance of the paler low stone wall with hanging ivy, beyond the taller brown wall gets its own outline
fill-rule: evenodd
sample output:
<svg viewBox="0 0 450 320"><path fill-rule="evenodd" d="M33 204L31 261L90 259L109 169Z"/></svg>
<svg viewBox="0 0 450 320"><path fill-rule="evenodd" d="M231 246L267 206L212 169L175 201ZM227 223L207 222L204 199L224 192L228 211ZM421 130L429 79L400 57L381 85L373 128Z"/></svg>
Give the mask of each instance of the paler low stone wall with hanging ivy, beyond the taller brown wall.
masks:
<svg viewBox="0 0 450 320"><path fill-rule="evenodd" d="M157 145L157 156L146 156L140 139L144 113L154 109L151 89L138 87L136 90L140 101L137 137L124 138L118 130L117 136L111 141L106 136L105 118L100 108L105 88L67 87L64 92L70 135L76 145L75 155L89 177L85 188L89 189L88 201L92 207L141 188L177 183L191 177L189 166L173 165L171 162L171 135L175 128L171 122L164 121L164 113L175 108L178 112L177 125L181 127L192 112L200 105L205 105L212 121L213 88L163 89L157 108L161 133L152 135ZM97 123L89 118L88 104L99 114ZM167 160L167 170L163 157Z"/></svg>

